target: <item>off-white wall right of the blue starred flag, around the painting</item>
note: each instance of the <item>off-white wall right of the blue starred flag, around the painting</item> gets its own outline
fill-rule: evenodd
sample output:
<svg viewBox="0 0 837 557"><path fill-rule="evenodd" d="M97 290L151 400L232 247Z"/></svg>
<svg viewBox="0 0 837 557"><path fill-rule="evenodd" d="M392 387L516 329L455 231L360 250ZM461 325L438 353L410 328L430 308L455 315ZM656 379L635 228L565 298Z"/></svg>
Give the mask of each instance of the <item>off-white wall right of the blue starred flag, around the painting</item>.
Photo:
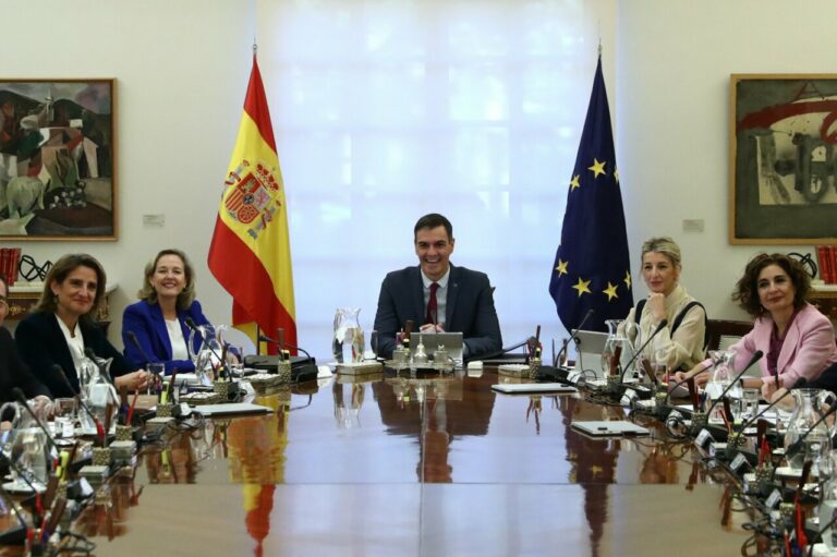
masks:
<svg viewBox="0 0 837 557"><path fill-rule="evenodd" d="M677 239L682 282L711 317L744 317L729 294L754 253L813 252L728 243L729 75L834 72L835 17L829 0L619 2L617 153L632 254L651 235ZM683 219L703 219L704 232L683 232Z"/></svg>

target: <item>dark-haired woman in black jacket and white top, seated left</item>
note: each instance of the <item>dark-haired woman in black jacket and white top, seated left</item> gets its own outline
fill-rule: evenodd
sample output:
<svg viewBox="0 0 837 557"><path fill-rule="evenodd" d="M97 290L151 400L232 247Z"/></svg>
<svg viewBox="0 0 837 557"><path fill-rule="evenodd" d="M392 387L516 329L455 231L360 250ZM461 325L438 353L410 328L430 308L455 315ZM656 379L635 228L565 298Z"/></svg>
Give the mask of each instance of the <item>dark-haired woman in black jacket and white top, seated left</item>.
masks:
<svg viewBox="0 0 837 557"><path fill-rule="evenodd" d="M40 301L14 331L21 358L54 397L78 392L77 371L86 349L113 359L110 374L117 388L138 390L148 382L148 374L113 348L96 320L106 281L105 269L92 255L64 255L49 269Z"/></svg>

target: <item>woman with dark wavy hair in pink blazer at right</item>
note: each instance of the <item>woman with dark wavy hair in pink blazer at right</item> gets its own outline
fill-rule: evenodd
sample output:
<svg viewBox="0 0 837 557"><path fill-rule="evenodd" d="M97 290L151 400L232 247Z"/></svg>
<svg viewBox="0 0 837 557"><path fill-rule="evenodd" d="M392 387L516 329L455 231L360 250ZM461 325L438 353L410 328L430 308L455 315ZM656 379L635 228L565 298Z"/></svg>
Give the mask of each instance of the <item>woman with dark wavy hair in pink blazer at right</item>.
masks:
<svg viewBox="0 0 837 557"><path fill-rule="evenodd" d="M802 265L785 254L761 253L747 264L732 300L755 318L753 330L741 338L735 350L733 370L740 371L756 350L764 356L759 362L761 378L747 378L744 386L762 387L768 398L779 387L791 388L799 378L809 386L817 380L835 362L837 346L828 318L806 302L811 279ZM693 367L689 373L708 362ZM778 374L778 385L773 379ZM832 375L832 372L828 372ZM687 375L678 378L681 380ZM707 374L695 377L707 380Z"/></svg>

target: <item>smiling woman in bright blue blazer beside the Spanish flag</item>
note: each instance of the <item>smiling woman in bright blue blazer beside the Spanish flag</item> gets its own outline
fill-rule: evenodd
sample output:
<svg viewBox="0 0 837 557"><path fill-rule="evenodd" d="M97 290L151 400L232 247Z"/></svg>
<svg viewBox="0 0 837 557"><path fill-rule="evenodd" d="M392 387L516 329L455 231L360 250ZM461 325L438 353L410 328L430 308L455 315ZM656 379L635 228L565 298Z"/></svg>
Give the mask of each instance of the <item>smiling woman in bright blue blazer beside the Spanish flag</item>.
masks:
<svg viewBox="0 0 837 557"><path fill-rule="evenodd" d="M166 373L194 372L189 358L191 319L209 325L195 300L195 270L180 250L163 250L145 266L140 301L122 315L125 358L138 366L162 363ZM194 347L196 349L197 347Z"/></svg>

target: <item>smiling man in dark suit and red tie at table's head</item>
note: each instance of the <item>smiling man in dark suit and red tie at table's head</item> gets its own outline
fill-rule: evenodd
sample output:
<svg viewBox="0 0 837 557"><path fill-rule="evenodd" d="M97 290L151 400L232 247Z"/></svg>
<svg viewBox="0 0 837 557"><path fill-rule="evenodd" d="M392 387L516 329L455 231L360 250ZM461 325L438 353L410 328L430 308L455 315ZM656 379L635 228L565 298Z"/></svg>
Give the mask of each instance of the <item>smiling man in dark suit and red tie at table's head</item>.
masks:
<svg viewBox="0 0 837 557"><path fill-rule="evenodd" d="M380 286L375 330L378 353L390 358L396 332L410 319L421 331L462 332L464 359L502 347L493 288L484 273L450 264L453 227L438 214L420 218L413 229L417 267L389 273Z"/></svg>

